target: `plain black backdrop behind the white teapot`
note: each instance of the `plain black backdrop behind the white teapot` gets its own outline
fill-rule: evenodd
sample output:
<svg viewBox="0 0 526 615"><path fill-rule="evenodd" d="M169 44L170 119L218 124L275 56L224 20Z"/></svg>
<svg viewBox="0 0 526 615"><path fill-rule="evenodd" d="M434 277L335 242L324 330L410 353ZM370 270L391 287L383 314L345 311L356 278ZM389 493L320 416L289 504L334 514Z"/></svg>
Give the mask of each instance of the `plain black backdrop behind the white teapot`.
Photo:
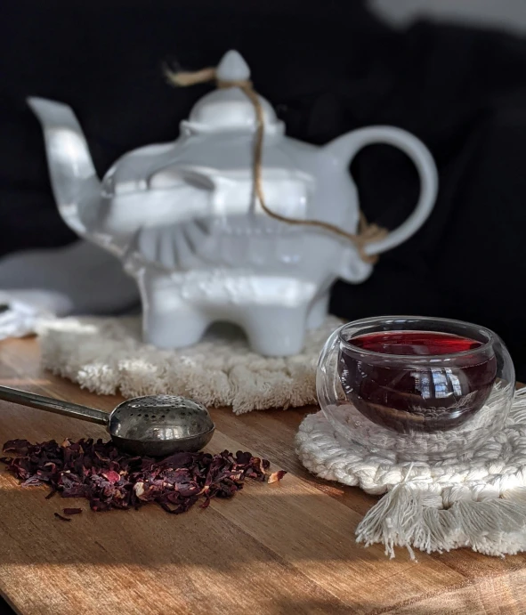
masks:
<svg viewBox="0 0 526 615"><path fill-rule="evenodd" d="M523 39L426 22L394 31L358 0L4 0L0 24L0 256L76 239L56 212L26 96L75 109L103 174L127 150L174 139L210 87L175 90L163 62L200 69L235 48L289 135L322 144L398 125L439 167L425 227L364 284L337 283L332 311L477 322L505 339L526 380ZM416 172L396 150L370 146L352 173L369 220L393 228L416 203Z"/></svg>

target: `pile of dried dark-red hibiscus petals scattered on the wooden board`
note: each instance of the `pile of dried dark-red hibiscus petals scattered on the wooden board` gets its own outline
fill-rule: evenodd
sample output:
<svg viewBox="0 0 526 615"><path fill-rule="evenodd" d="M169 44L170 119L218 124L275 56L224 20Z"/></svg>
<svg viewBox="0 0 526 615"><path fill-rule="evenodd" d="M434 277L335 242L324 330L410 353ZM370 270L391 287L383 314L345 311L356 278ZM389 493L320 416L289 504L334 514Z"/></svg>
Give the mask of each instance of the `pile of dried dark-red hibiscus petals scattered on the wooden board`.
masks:
<svg viewBox="0 0 526 615"><path fill-rule="evenodd" d="M212 498L232 498L247 478L265 481L270 466L266 459L241 450L235 455L228 450L218 455L175 453L160 460L133 457L120 452L112 441L93 439L66 439L61 445L54 440L37 444L13 440L5 443L4 450L19 456L0 461L22 485L48 484L52 489L48 498L56 492L62 498L86 498L97 512L155 502L168 513L181 514L199 499L206 508ZM275 474L279 473L271 478ZM64 513L73 510L80 512L64 508Z"/></svg>

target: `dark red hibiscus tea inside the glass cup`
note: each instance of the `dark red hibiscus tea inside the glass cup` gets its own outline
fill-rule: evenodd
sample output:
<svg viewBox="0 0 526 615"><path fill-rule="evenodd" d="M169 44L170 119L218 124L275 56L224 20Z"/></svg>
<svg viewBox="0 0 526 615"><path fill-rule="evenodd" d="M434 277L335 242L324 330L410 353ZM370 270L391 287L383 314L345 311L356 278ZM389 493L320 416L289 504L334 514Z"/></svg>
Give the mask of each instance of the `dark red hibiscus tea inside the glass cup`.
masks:
<svg viewBox="0 0 526 615"><path fill-rule="evenodd" d="M488 399L497 377L490 344L435 331L380 331L341 347L338 372L349 401L401 433L457 427Z"/></svg>

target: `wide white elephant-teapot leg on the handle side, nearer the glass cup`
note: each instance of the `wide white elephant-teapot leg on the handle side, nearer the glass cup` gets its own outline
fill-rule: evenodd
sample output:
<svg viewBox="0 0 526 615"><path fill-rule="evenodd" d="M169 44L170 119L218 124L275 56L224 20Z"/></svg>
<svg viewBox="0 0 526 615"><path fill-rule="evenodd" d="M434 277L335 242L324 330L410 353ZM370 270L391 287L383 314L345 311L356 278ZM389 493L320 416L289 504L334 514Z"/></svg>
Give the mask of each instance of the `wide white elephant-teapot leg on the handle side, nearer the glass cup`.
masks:
<svg viewBox="0 0 526 615"><path fill-rule="evenodd" d="M285 357L303 350L307 306L247 306L239 324L245 329L254 352Z"/></svg>

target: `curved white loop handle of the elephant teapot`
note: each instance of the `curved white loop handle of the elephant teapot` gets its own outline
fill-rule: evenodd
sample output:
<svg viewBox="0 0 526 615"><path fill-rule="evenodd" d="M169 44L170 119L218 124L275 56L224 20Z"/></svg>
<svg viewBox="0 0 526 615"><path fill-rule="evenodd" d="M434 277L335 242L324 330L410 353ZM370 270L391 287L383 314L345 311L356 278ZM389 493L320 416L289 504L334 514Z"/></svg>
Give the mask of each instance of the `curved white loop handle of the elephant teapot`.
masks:
<svg viewBox="0 0 526 615"><path fill-rule="evenodd" d="M348 167L356 153L372 143L393 145L411 158L420 177L420 196L417 206L404 223L384 239L371 242L364 247L366 254L371 256L399 246L416 233L431 214L438 191L438 173L431 152L416 136L401 128L393 126L359 128L328 143L326 148L341 160L345 167Z"/></svg>

